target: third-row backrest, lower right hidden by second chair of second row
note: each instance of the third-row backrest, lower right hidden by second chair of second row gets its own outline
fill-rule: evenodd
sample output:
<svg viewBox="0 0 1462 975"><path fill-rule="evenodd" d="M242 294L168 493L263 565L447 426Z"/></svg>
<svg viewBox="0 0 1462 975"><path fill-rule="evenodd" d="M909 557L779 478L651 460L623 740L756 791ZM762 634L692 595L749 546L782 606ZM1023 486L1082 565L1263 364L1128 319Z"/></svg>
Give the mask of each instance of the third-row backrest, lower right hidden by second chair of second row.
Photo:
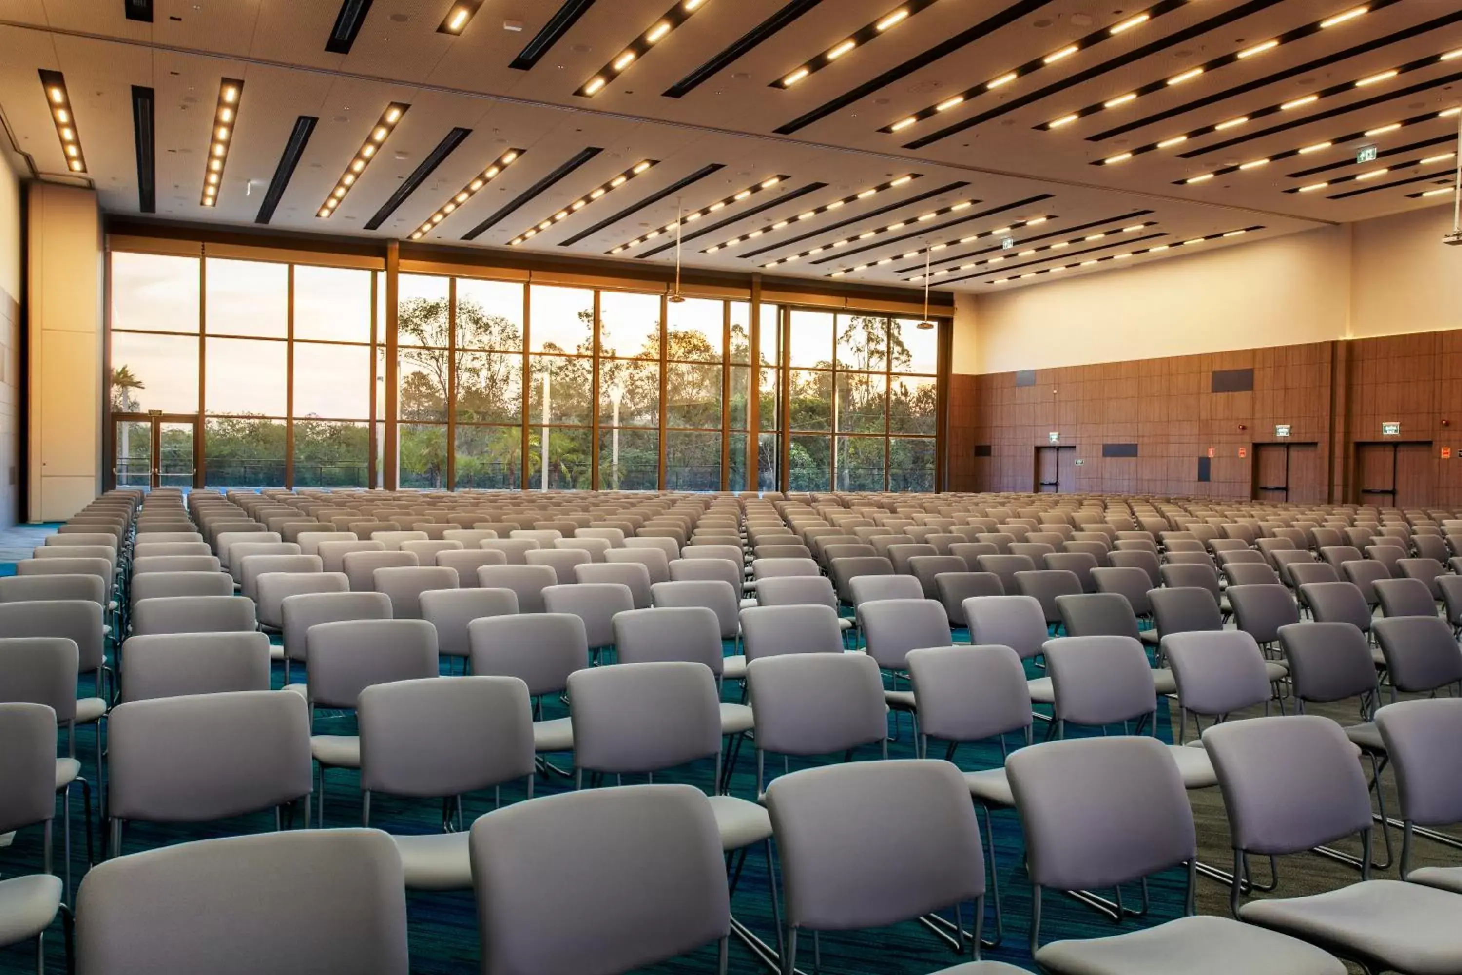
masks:
<svg viewBox="0 0 1462 975"><path fill-rule="evenodd" d="M306 648L311 706L355 707L371 684L440 672L437 630L425 620L317 623L306 633Z"/></svg>

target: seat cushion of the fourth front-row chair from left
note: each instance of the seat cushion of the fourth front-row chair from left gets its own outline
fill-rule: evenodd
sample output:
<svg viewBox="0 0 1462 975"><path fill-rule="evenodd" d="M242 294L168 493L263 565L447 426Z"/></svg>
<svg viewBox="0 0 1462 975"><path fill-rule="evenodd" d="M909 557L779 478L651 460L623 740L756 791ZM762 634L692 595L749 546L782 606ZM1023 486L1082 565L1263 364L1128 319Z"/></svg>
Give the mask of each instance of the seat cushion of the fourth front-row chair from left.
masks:
<svg viewBox="0 0 1462 975"><path fill-rule="evenodd" d="M1341 975L1339 959L1304 941L1215 917L1178 918L1145 931L1053 941L1035 960L1057 975Z"/></svg>

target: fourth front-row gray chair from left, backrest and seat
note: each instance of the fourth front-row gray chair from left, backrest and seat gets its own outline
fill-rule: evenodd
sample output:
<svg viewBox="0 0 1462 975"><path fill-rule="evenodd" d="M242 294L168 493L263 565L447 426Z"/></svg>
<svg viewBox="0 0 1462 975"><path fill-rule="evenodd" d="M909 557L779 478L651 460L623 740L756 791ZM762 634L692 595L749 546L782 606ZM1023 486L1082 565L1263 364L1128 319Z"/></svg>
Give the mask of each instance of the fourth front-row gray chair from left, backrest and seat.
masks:
<svg viewBox="0 0 1462 975"><path fill-rule="evenodd" d="M1234 722L1246 725L1250 722ZM1323 950L1228 918L1193 917L1197 835L1183 778L1149 738L1022 748L1007 762L1031 864L1031 953L1053 975L1342 975ZM1181 918L1041 946L1042 890L1080 892L1186 865Z"/></svg>

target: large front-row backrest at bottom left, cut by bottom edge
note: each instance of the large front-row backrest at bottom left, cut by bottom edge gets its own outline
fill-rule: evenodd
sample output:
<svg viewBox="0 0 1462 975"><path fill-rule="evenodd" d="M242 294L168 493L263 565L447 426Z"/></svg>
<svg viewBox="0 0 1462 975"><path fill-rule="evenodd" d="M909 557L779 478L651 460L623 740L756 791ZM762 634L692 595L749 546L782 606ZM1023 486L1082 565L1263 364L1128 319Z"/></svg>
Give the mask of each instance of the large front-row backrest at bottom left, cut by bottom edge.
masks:
<svg viewBox="0 0 1462 975"><path fill-rule="evenodd" d="M82 887L82 975L409 968L401 855L376 830L183 843L98 864ZM177 924L183 917L189 924Z"/></svg>

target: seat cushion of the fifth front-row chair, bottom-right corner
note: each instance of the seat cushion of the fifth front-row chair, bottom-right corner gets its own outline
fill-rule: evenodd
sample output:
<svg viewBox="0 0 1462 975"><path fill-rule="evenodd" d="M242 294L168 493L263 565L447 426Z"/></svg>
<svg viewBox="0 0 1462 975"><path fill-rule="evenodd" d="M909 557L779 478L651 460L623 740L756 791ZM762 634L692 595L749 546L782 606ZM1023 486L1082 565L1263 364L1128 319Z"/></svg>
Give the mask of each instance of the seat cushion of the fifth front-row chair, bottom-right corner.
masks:
<svg viewBox="0 0 1462 975"><path fill-rule="evenodd" d="M1462 971L1458 895L1399 880L1367 880L1308 898L1253 900L1238 918L1294 934L1371 971L1449 975Z"/></svg>

